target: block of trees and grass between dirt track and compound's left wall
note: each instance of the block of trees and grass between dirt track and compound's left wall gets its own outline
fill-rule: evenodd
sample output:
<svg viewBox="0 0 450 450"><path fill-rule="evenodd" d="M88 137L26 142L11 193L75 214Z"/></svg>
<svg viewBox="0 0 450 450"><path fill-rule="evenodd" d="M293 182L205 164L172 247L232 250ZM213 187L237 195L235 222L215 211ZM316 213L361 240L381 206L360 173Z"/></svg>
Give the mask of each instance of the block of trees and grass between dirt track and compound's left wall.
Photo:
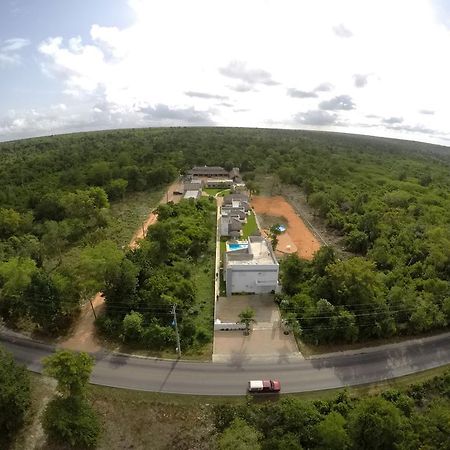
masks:
<svg viewBox="0 0 450 450"><path fill-rule="evenodd" d="M140 247L106 276L97 324L129 346L175 349L175 307L181 348L200 350L212 341L215 202L182 200L156 212Z"/></svg>

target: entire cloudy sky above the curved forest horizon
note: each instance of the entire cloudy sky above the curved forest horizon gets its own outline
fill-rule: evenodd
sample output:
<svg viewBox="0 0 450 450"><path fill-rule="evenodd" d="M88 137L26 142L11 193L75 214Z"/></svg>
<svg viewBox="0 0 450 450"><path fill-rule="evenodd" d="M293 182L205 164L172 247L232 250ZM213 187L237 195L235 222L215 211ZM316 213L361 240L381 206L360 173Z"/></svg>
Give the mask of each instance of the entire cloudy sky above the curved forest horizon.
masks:
<svg viewBox="0 0 450 450"><path fill-rule="evenodd" d="M0 0L0 141L130 127L450 145L450 0Z"/></svg>

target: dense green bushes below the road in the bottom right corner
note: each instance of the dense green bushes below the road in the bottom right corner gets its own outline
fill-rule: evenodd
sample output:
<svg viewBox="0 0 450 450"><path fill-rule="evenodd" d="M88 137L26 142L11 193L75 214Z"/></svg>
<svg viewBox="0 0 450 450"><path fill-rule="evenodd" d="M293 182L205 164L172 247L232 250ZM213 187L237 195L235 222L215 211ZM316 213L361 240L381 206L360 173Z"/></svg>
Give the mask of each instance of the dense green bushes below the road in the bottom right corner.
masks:
<svg viewBox="0 0 450 450"><path fill-rule="evenodd" d="M372 396L219 404L214 423L221 450L448 448L450 373Z"/></svg>

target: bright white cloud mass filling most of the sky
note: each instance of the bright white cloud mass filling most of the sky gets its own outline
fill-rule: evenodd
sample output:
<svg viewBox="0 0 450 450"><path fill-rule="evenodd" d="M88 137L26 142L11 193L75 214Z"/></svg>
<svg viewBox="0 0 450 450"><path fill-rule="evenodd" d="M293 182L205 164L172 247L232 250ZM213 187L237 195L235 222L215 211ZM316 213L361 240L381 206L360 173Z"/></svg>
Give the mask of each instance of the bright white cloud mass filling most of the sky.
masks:
<svg viewBox="0 0 450 450"><path fill-rule="evenodd" d="M75 105L80 114L86 109L85 120L98 123L101 114L111 126L120 115L121 123L146 125L150 115L155 125L175 118L229 126L327 122L431 141L448 130L450 31L432 0L129 4L136 20L128 28L94 24L88 40L40 44L43 71L62 80L69 96L61 98L61 117ZM373 116L401 117L402 130ZM67 119L71 126L77 120Z"/></svg>

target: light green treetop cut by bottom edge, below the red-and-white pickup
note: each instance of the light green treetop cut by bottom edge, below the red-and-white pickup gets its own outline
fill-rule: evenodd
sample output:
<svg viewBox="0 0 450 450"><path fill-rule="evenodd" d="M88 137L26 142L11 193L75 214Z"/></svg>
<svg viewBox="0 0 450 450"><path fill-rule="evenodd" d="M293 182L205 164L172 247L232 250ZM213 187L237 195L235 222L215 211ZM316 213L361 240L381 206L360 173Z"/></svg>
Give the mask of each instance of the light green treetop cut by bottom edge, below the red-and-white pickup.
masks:
<svg viewBox="0 0 450 450"><path fill-rule="evenodd" d="M261 438L261 433L245 420L236 418L219 437L218 447L220 450L258 450Z"/></svg>

